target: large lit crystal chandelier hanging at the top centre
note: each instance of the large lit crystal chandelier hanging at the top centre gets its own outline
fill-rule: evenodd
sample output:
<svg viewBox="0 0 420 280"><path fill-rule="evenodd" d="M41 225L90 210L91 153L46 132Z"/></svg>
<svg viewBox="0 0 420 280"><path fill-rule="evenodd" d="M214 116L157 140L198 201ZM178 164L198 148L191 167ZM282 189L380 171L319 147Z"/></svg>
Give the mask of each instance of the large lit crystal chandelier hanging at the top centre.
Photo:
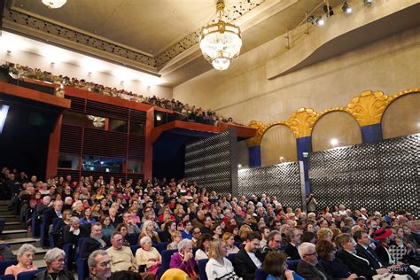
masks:
<svg viewBox="0 0 420 280"><path fill-rule="evenodd" d="M204 58L220 71L229 68L230 60L239 55L242 46L241 29L222 20L224 7L223 0L218 0L216 14L219 21L201 28L199 38Z"/></svg>

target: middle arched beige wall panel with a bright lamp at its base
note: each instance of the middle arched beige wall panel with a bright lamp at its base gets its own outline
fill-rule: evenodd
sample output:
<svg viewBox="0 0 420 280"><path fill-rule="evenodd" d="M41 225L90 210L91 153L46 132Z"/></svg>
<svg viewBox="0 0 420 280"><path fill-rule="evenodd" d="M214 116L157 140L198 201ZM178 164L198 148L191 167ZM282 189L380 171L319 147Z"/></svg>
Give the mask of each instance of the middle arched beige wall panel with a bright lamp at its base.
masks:
<svg viewBox="0 0 420 280"><path fill-rule="evenodd" d="M326 113L312 130L312 150L314 152L334 148L331 139L337 139L336 146L362 143L362 132L357 121L346 112Z"/></svg>

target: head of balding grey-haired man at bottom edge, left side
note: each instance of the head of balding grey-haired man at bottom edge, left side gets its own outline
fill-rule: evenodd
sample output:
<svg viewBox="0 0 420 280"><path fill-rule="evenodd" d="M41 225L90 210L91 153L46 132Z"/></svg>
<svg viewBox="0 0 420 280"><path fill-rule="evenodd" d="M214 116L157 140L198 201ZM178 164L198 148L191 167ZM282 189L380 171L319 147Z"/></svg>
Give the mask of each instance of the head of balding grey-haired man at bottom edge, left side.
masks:
<svg viewBox="0 0 420 280"><path fill-rule="evenodd" d="M105 250L97 250L89 255L89 274L92 280L106 280L111 277L111 257Z"/></svg>

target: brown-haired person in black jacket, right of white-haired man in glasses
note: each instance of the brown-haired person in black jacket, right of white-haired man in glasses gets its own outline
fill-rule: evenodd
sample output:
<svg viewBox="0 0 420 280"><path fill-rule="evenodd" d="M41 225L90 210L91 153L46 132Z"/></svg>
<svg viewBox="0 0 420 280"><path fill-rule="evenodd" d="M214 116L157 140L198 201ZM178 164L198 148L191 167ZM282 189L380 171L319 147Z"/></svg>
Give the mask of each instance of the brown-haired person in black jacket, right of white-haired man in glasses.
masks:
<svg viewBox="0 0 420 280"><path fill-rule="evenodd" d="M337 244L342 248L338 251L337 257L339 260L346 263L348 268L358 276L365 276L371 279L372 276L377 274L384 275L389 273L387 268L373 268L369 261L356 255L354 246L356 243L354 239L348 233L342 233L336 238Z"/></svg>

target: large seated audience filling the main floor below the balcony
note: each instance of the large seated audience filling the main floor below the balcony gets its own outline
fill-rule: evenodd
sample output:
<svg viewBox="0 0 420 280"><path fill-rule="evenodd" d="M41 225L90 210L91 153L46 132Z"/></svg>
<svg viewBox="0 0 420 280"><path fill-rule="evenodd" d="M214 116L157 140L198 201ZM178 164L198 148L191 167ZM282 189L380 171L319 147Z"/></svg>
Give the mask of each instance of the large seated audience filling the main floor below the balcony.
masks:
<svg viewBox="0 0 420 280"><path fill-rule="evenodd" d="M419 279L420 221L403 210L319 209L310 196L312 211L305 213L263 193L234 198L185 179L122 183L68 175L43 182L6 167L0 178L11 206L19 202L20 208L35 211L44 226L57 219L51 229L55 246L73 245L87 260L92 279L123 272L154 279L164 272L162 250L173 250L169 268L191 279L198 278L201 260L208 260L211 280L255 279L258 268L269 280ZM130 245L138 246L136 252ZM35 269L33 246L22 245L18 254L19 268L6 272ZM46 274L73 279L63 260L60 249L51 249L43 279ZM165 272L170 273L174 270Z"/></svg>

